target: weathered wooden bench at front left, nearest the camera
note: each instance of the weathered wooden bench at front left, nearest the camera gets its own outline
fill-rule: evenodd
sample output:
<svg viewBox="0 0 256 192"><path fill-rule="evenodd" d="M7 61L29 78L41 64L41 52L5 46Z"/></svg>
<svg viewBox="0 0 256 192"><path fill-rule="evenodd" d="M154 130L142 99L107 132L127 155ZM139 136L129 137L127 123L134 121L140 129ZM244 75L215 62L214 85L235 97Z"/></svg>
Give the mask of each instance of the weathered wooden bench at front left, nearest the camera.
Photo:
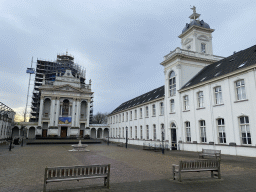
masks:
<svg viewBox="0 0 256 192"><path fill-rule="evenodd" d="M44 174L44 192L50 182L104 178L104 186L109 188L110 164L71 167L46 167Z"/></svg>

